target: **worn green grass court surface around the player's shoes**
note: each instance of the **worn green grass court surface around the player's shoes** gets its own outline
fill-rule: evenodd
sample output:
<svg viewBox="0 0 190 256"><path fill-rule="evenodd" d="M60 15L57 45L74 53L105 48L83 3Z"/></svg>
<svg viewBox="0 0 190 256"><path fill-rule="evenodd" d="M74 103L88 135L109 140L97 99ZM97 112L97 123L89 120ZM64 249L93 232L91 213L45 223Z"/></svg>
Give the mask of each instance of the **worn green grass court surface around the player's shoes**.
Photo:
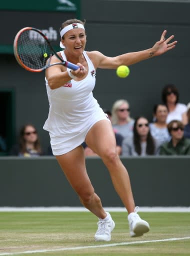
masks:
<svg viewBox="0 0 190 256"><path fill-rule="evenodd" d="M0 212L0 256L190 255L189 212L139 214L148 233L130 238L126 213L112 212L111 241L95 242L97 218L90 212Z"/></svg>

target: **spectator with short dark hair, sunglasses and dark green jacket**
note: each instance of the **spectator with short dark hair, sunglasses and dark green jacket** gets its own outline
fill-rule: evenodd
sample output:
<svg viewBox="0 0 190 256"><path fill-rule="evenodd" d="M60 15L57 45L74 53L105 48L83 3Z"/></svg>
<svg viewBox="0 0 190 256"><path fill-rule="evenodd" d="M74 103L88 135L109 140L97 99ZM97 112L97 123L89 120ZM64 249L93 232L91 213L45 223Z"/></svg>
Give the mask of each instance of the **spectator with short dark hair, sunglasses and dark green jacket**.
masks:
<svg viewBox="0 0 190 256"><path fill-rule="evenodd" d="M160 146L161 155L190 154L190 139L184 137L184 125L181 121L172 120L167 124L171 140Z"/></svg>

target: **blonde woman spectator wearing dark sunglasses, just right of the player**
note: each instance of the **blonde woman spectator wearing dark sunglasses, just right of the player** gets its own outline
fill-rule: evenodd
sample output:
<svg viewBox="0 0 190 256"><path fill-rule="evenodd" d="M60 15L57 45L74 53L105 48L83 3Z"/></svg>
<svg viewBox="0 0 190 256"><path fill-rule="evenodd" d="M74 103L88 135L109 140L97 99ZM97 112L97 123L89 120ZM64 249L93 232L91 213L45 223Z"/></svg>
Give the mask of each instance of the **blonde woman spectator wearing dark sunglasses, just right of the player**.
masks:
<svg viewBox="0 0 190 256"><path fill-rule="evenodd" d="M125 99L118 99L112 106L112 126L123 138L132 133L134 120L130 117L129 103Z"/></svg>

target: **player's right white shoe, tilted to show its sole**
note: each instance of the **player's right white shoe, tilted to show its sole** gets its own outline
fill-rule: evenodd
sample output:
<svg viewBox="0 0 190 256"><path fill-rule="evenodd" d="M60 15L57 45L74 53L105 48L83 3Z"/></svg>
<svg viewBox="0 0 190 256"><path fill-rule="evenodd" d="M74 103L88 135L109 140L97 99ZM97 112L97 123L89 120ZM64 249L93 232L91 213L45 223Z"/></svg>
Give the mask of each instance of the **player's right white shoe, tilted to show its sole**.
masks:
<svg viewBox="0 0 190 256"><path fill-rule="evenodd" d="M128 225L131 237L141 236L143 233L149 231L149 224L137 214L138 209L139 207L136 206L134 212L128 215Z"/></svg>

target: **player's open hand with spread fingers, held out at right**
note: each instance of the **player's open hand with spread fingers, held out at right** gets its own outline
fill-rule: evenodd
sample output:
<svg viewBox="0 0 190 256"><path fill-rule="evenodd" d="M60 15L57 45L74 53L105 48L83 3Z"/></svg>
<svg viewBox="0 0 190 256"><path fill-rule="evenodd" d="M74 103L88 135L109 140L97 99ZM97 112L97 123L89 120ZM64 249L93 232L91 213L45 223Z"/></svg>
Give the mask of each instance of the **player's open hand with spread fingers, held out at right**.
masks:
<svg viewBox="0 0 190 256"><path fill-rule="evenodd" d="M174 35L171 35L166 39L165 38L166 32L167 30L163 30L160 40L157 41L151 48L154 56L161 55L166 51L171 50L175 47L175 44L177 43L177 41L170 42L174 38Z"/></svg>

